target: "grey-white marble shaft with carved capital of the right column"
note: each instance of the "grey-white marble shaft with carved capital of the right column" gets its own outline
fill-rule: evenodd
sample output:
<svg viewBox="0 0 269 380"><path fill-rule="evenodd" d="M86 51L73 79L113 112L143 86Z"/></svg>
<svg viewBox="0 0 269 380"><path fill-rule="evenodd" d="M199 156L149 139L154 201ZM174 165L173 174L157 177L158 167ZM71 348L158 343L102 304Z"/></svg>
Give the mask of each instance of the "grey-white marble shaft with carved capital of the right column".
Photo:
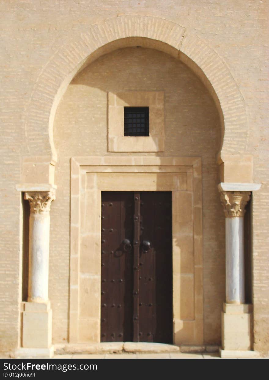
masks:
<svg viewBox="0 0 269 380"><path fill-rule="evenodd" d="M250 192L223 191L220 199L225 213L226 303L244 304L244 214Z"/></svg>

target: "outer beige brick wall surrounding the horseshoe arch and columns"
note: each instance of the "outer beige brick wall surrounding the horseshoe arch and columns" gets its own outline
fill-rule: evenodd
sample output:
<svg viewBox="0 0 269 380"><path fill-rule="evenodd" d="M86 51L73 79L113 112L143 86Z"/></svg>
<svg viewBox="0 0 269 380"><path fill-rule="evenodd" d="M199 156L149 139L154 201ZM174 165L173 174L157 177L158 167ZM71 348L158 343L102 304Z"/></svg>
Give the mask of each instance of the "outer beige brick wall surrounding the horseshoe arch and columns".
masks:
<svg viewBox="0 0 269 380"><path fill-rule="evenodd" d="M247 148L254 156L254 181L263 184L253 197L253 299L255 348L268 350L268 129L267 51L268 7L265 1L10 1L0 4L1 38L1 300L2 349L14 348L19 336L20 181L21 157L29 155L27 109L44 65L73 33L123 14L165 18L184 26L214 49L228 66L245 101ZM268 56L268 55L267 55ZM38 105L37 105L38 106ZM38 107L37 107L38 108ZM36 124L35 128L39 125ZM43 142L38 141L37 146ZM233 141L231 141L233 144ZM59 168L61 165L59 159ZM56 180L58 177L56 176ZM216 199L216 198L215 198ZM53 207L52 207L53 208ZM60 223L60 222L59 222ZM55 226L54 226L55 228ZM57 230L57 228L56 228ZM53 231L52 239L53 239ZM221 239L220 239L221 241ZM67 242L66 242L67 244ZM60 260L60 258L59 258ZM216 256L214 260L221 260ZM54 272L55 260L51 260ZM59 264L57 264L59 265ZM66 270L67 271L67 270ZM66 272L63 282L66 281ZM210 277L207 274L207 277ZM60 286L60 282L57 287ZM64 290L66 291L66 290ZM59 301L59 304L62 304ZM55 307L59 305L54 302ZM60 307L60 306L59 306ZM206 307L206 300L205 300ZM66 313L67 306L62 312ZM60 307L61 309L61 307ZM209 313L210 314L210 313ZM65 317L66 318L66 317ZM67 326L65 324L65 326ZM61 333L61 338L67 336ZM60 336L59 336L60 339ZM210 339L209 339L210 340Z"/></svg>

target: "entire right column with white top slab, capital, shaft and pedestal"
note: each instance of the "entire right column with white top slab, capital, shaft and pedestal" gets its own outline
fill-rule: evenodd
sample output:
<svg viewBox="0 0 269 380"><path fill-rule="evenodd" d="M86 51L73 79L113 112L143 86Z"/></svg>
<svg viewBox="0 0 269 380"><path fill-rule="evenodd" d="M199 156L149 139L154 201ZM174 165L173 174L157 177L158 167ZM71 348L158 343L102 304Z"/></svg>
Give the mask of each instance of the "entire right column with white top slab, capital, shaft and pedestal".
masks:
<svg viewBox="0 0 269 380"><path fill-rule="evenodd" d="M225 213L226 301L222 311L223 358L255 357L253 351L252 305L245 304L244 214L253 190L260 184L225 183L218 185Z"/></svg>

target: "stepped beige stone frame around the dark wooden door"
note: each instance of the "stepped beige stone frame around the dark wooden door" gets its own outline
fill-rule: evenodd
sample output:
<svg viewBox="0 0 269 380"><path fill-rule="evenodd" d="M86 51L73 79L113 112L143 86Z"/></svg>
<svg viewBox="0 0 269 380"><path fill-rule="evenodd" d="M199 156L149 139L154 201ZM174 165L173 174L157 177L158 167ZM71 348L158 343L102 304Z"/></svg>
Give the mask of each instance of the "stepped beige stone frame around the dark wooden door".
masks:
<svg viewBox="0 0 269 380"><path fill-rule="evenodd" d="M203 344L201 158L71 158L69 341L100 342L101 191L171 191L173 342Z"/></svg>

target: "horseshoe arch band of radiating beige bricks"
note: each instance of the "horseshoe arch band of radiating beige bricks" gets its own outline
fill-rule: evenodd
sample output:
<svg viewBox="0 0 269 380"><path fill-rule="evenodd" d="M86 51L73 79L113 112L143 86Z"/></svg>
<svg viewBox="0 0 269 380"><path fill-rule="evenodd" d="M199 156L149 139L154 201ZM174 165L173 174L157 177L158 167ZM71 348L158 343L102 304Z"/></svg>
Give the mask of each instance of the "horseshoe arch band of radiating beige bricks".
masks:
<svg viewBox="0 0 269 380"><path fill-rule="evenodd" d="M246 138L242 139L242 133L247 137L244 100L218 54L204 41L185 33L184 27L173 22L149 16L120 16L98 22L84 33L74 36L73 41L55 52L44 66L28 107L26 130L30 155L51 156L52 161L57 161L53 122L64 90L93 52L128 37L144 37L168 44L179 52L180 59L190 68L198 68L198 76L213 89L213 97L223 120L221 154L245 151ZM43 142L42 152L36 151L36 147L40 147L38 141Z"/></svg>

